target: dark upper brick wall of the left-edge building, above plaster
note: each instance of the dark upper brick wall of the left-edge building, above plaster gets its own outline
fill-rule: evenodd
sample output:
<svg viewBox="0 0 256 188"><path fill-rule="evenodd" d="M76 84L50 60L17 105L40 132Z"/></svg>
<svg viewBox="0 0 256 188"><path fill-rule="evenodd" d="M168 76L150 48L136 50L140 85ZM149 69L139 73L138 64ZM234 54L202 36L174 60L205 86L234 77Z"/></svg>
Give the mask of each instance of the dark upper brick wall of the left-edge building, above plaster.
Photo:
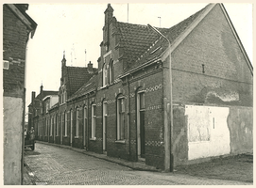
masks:
<svg viewBox="0 0 256 188"><path fill-rule="evenodd" d="M24 97L26 25L3 6L3 58L9 61L9 70L3 71L4 96Z"/></svg>

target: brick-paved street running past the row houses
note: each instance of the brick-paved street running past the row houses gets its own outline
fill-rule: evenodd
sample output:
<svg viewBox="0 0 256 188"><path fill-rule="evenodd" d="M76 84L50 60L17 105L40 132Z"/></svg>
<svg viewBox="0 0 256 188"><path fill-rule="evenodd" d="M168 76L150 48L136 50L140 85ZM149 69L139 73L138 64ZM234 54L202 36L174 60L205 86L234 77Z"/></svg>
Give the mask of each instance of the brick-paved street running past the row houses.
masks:
<svg viewBox="0 0 256 188"><path fill-rule="evenodd" d="M71 149L36 144L26 149L26 175L47 185L246 185L242 181L196 178L174 173L136 171ZM28 182L25 182L28 184Z"/></svg>

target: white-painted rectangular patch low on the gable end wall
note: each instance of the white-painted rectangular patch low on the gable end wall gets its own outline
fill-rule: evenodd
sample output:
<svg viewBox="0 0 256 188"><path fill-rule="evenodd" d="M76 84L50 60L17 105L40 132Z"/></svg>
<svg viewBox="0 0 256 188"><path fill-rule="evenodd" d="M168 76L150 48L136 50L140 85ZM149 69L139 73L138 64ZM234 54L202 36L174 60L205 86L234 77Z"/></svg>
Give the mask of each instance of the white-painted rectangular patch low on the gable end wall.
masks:
<svg viewBox="0 0 256 188"><path fill-rule="evenodd" d="M186 105L188 160L230 153L228 107Z"/></svg>

